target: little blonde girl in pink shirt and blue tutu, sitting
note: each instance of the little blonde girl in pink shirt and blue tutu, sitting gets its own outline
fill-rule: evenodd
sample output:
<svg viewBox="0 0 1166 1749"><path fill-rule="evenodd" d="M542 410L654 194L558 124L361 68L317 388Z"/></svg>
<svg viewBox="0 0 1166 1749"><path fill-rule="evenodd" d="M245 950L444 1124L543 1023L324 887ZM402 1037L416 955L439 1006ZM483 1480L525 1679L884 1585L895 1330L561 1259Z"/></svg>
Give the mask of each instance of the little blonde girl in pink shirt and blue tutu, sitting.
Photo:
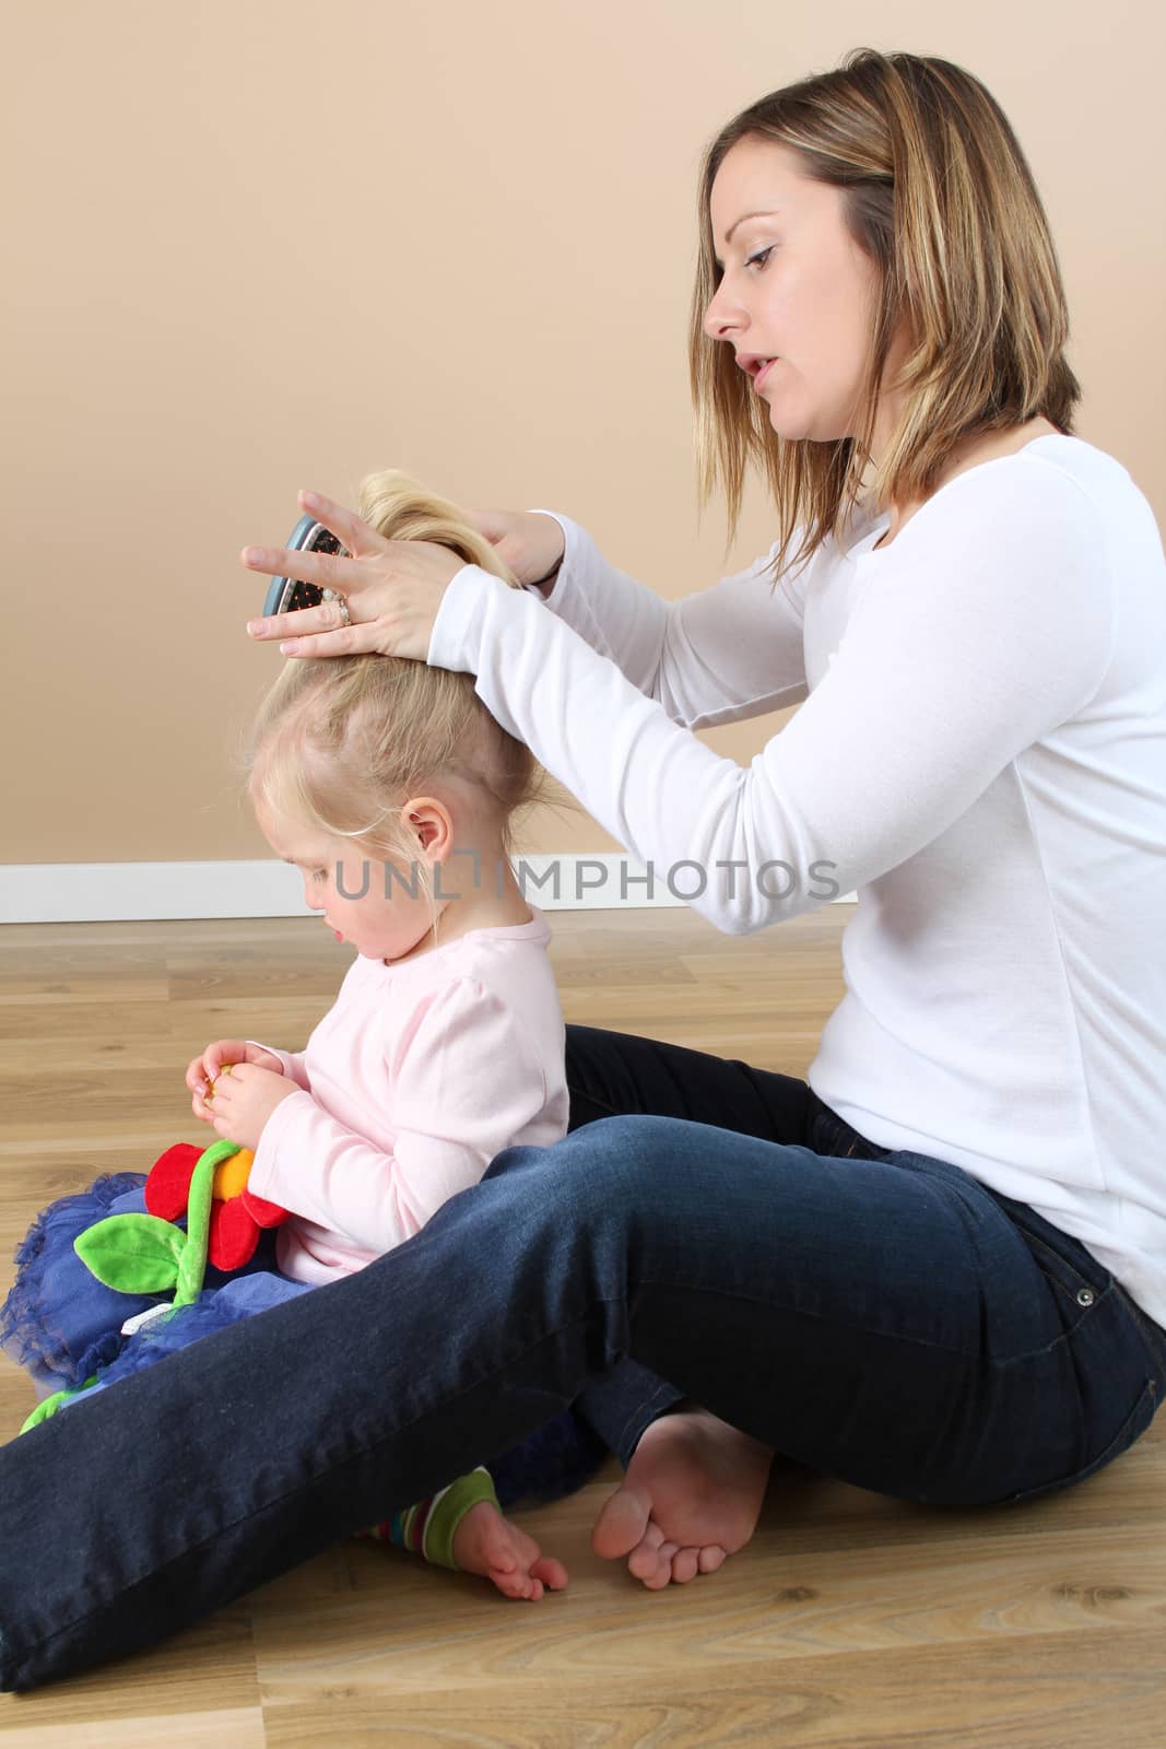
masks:
<svg viewBox="0 0 1166 1749"><path fill-rule="evenodd" d="M453 505L404 474L365 479L360 514L388 539L444 542L517 586ZM208 1268L212 1286L194 1305L126 1336L122 1320L157 1298L103 1287L73 1238L142 1209L143 1175L100 1179L52 1203L17 1252L0 1312L0 1347L42 1390L91 1378L89 1389L107 1389L360 1270L475 1184L502 1149L566 1133L551 929L509 861L512 819L542 799L545 773L489 715L474 675L383 656L288 661L260 705L246 773L264 836L301 869L306 902L357 950L304 1051L217 1039L187 1069L194 1114L253 1151L248 1189L290 1217L264 1233L243 1272ZM601 1455L568 1411L505 1453L495 1480L509 1478L510 1497L549 1497ZM481 1469L374 1534L484 1574L509 1597L566 1583L561 1564L502 1516Z"/></svg>

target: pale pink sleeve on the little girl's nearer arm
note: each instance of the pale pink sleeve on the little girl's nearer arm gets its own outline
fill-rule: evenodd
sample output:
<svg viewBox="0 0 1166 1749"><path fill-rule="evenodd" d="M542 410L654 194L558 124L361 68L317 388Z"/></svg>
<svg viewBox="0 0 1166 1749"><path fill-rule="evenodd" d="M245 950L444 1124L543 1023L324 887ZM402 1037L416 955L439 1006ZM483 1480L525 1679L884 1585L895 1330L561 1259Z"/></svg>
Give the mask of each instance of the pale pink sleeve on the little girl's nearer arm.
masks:
<svg viewBox="0 0 1166 1749"><path fill-rule="evenodd" d="M404 1037L388 1041L383 1079L360 1091L379 1104L392 1149L294 1093L264 1126L250 1188L376 1252L477 1184L547 1097L523 1021L475 978L427 992Z"/></svg>

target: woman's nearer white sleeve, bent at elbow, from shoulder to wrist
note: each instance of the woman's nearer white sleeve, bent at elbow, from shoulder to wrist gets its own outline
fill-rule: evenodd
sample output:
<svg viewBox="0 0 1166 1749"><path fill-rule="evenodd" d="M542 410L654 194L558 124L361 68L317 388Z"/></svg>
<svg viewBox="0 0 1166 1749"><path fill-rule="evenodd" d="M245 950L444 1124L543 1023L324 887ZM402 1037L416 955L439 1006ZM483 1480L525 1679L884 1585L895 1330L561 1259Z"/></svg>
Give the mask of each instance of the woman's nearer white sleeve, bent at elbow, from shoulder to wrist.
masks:
<svg viewBox="0 0 1166 1749"><path fill-rule="evenodd" d="M633 857L748 934L906 862L1101 682L1112 577L1080 486L1033 460L946 490L869 574L829 672L746 768L474 565L446 589L427 659L474 673L498 722Z"/></svg>

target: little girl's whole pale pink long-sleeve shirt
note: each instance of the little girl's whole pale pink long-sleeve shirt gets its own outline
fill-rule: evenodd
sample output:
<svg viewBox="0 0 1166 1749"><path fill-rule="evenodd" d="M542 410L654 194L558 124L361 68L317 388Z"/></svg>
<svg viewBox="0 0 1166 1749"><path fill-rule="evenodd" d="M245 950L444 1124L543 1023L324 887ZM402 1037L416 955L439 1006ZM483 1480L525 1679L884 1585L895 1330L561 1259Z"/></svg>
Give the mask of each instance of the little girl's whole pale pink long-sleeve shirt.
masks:
<svg viewBox="0 0 1166 1749"><path fill-rule="evenodd" d="M358 955L264 1125L250 1188L292 1210L276 1259L351 1275L418 1233L512 1144L566 1135L566 1032L538 906L400 965ZM257 1042L257 1041L255 1041Z"/></svg>

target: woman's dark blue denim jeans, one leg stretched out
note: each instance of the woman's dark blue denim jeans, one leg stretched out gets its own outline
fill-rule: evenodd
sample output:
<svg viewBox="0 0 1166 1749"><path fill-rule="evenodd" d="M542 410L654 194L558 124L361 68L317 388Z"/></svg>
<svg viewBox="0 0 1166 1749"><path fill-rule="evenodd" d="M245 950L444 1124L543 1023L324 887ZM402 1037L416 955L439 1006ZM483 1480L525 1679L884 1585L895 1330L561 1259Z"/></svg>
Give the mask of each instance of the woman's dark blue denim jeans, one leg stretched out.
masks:
<svg viewBox="0 0 1166 1749"><path fill-rule="evenodd" d="M568 1081L575 1128L406 1245L0 1450L3 1688L163 1639L593 1392L629 1425L682 1392L932 1506L1068 1487L1149 1427L1166 1331L1026 1205L745 1063L568 1027Z"/></svg>

